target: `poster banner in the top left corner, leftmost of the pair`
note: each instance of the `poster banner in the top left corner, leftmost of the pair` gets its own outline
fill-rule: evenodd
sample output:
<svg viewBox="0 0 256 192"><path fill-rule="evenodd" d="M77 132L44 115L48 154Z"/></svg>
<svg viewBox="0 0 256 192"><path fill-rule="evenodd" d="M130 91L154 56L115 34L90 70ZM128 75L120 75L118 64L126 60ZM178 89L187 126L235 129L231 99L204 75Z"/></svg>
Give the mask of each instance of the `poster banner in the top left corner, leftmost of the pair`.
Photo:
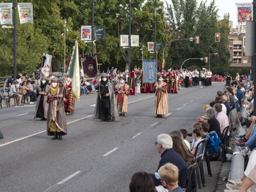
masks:
<svg viewBox="0 0 256 192"><path fill-rule="evenodd" d="M0 3L0 24L12 24L12 3Z"/></svg>

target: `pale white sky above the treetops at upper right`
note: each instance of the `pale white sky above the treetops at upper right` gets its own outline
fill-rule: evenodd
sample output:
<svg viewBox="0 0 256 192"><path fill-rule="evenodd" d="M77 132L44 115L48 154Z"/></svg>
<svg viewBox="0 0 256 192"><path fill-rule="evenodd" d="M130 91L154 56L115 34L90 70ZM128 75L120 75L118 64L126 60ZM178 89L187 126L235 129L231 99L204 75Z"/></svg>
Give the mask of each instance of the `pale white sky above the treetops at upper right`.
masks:
<svg viewBox="0 0 256 192"><path fill-rule="evenodd" d="M166 0L168 3L171 2L171 0ZM206 0L197 0L198 4L201 1ZM207 5L209 5L212 1L207 0ZM250 3L253 2L253 0L215 0L215 5L218 8L219 12L218 15L220 16L220 19L223 18L223 15L225 13L229 13L230 19L233 21L233 28L236 28L236 3Z"/></svg>

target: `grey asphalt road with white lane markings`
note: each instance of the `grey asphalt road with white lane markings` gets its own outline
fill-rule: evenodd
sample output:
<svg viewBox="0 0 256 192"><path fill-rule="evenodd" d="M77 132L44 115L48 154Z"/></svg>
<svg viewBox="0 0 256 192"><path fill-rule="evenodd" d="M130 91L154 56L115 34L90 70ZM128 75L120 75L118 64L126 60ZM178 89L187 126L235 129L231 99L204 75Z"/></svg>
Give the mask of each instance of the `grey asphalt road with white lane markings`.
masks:
<svg viewBox="0 0 256 192"><path fill-rule="evenodd" d="M46 122L33 119L35 105L0 109L0 191L129 191L133 173L157 169L156 136L190 132L223 87L213 83L168 94L165 118L154 115L154 94L130 96L119 122L94 120L96 97L83 96L67 116L68 134L61 141L47 136Z"/></svg>

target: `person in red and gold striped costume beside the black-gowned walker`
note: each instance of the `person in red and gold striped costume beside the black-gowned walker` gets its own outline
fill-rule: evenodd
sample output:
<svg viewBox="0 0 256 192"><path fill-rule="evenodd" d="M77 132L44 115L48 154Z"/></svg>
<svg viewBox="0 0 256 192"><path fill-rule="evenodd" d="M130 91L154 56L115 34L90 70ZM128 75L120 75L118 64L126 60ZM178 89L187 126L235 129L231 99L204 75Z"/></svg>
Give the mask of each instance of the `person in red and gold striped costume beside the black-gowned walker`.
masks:
<svg viewBox="0 0 256 192"><path fill-rule="evenodd" d="M120 116L127 113L127 97L129 96L129 85L125 84L124 77L119 77L119 83L115 86L117 110Z"/></svg>

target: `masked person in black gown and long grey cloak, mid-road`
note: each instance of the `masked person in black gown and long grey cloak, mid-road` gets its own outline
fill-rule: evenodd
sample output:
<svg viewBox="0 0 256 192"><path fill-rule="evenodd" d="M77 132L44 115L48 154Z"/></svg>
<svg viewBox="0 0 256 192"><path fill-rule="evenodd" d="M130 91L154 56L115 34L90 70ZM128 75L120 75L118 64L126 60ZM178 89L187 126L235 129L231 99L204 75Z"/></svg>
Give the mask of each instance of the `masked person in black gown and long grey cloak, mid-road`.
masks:
<svg viewBox="0 0 256 192"><path fill-rule="evenodd" d="M93 118L102 122L119 120L113 85L109 82L106 73L102 74L101 81L95 88L98 89L98 95Z"/></svg>

